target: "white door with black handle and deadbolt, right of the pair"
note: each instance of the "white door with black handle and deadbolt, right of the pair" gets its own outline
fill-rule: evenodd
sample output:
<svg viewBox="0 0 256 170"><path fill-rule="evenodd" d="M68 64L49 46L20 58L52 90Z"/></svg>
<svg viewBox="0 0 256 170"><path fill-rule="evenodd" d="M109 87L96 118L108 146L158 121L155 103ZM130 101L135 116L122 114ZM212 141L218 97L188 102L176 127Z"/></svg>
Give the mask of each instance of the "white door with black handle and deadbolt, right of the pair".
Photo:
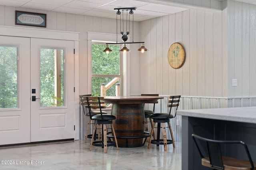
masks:
<svg viewBox="0 0 256 170"><path fill-rule="evenodd" d="M31 142L74 139L74 41L31 38Z"/></svg>

